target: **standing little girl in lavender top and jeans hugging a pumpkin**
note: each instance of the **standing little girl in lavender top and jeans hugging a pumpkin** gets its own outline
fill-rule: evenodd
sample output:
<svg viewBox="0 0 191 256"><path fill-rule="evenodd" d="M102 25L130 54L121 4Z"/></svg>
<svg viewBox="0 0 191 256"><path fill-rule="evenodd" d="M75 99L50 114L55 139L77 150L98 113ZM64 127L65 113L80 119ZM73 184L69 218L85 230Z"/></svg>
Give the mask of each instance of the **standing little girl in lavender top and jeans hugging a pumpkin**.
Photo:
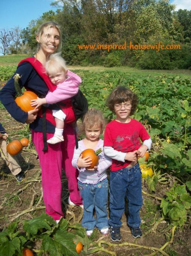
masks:
<svg viewBox="0 0 191 256"><path fill-rule="evenodd" d="M108 180L106 170L112 164L102 151L99 154L99 163L90 169L92 164L89 157L82 158L81 152L85 149L102 149L104 141L100 134L105 128L105 119L102 112L89 109L83 118L83 131L85 139L78 142L78 149L74 149L72 165L79 170L78 187L83 199L84 213L82 226L86 228L87 236L91 236L95 226L103 235L109 233L107 218ZM94 218L94 209L96 219Z"/></svg>

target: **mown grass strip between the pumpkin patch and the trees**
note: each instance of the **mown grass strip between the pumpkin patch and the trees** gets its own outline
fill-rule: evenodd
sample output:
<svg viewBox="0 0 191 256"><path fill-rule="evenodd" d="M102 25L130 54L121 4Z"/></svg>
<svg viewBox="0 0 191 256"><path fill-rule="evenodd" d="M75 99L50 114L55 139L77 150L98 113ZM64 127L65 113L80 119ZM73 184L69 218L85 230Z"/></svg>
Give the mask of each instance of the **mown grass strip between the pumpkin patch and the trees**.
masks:
<svg viewBox="0 0 191 256"><path fill-rule="evenodd" d="M0 56L0 65L18 65L19 61L24 58L27 58L31 55L21 54L21 55L5 55ZM68 66L68 69L83 69L89 70L91 72L101 72L101 71L123 71L128 72L134 76L160 76L162 74L166 75L173 75L173 76L181 76L184 78L190 78L191 70L189 69L173 69L173 70L142 70L137 68L130 68L128 66L121 66L121 67L113 67L113 68L105 68L103 66L92 66L92 67L84 67L84 66Z"/></svg>

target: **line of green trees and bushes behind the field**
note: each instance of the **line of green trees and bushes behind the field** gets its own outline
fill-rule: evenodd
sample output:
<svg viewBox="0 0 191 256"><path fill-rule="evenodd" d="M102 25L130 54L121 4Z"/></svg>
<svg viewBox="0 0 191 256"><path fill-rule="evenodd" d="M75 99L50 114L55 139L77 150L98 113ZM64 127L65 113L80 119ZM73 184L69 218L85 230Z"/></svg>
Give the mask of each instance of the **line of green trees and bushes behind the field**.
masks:
<svg viewBox="0 0 191 256"><path fill-rule="evenodd" d="M61 26L62 56L70 65L191 68L191 11L175 11L169 0L58 0L51 5L57 8L56 12L43 13L23 30L16 27L0 31L1 45L7 35L4 48L0 46L4 55L34 53L37 27L53 20ZM139 46L161 42L164 46L180 47L158 51L147 47L105 49L105 45L124 45L125 42ZM79 47L98 44L103 47L94 50Z"/></svg>

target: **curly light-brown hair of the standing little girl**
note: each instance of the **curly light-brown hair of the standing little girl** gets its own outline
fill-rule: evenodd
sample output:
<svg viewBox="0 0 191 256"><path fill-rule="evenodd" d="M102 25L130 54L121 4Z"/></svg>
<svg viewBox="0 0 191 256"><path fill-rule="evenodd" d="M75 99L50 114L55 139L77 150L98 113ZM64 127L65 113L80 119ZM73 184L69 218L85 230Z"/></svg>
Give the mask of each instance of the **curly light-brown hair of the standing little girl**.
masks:
<svg viewBox="0 0 191 256"><path fill-rule="evenodd" d="M83 117L81 131L85 133L85 129L91 129L97 125L100 125L101 132L103 132L106 126L106 119L100 110L91 108Z"/></svg>

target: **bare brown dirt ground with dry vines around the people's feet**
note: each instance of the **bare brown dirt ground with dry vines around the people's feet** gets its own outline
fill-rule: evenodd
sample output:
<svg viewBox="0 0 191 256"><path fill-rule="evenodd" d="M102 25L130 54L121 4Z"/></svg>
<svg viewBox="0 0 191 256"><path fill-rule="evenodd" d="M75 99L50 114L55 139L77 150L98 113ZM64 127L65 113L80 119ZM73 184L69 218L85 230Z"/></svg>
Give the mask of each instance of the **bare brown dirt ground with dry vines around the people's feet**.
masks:
<svg viewBox="0 0 191 256"><path fill-rule="evenodd" d="M5 126L7 133L13 138L15 130L23 129L24 125L16 122L5 109L0 108L0 122ZM5 162L0 158L0 231L3 227L8 226L11 221L19 219L21 223L24 219L31 219L35 216L39 216L44 212L44 203L42 199L42 187L41 187L41 176L40 176L40 165L37 159L36 151L34 147L32 150L23 150L18 154L18 159L21 164L23 171L25 172L25 179L19 183L15 177L11 175L9 168ZM109 173L108 173L109 177ZM75 206L71 208L67 204L68 200L68 187L67 180L63 172L63 210L66 214L67 219L71 219L71 222L79 221L81 223L83 210ZM147 187L143 181L142 189L149 193ZM166 187L157 187L157 197L163 197ZM122 216L123 225L121 227L121 243L128 242L138 244L140 246L149 246L161 248L167 241L171 239L172 226L162 220L159 212L160 201L153 197L148 197L143 194L144 205L141 208L142 218L142 231L143 236L139 239L134 239L131 236L131 232L126 225L127 209ZM154 208L153 208L154 205ZM149 207L151 208L149 210ZM93 241L97 241L100 238L107 242L112 242L110 236L101 236L99 231L95 230L92 238ZM114 243L114 242L112 242ZM115 243L119 244L119 243ZM38 248L38 244L36 245ZM116 246L109 247L111 251L115 251L118 256L139 256L149 255L153 253L152 249L147 250L143 248L135 248L133 246ZM191 226L187 223L181 228L176 228L175 235L171 244L168 244L164 251L167 255L180 255L189 256L191 255ZM91 255L108 255L104 252L94 253ZM154 255L154 254L152 254ZM156 255L162 255L157 252ZM56 255L55 255L56 256Z"/></svg>

